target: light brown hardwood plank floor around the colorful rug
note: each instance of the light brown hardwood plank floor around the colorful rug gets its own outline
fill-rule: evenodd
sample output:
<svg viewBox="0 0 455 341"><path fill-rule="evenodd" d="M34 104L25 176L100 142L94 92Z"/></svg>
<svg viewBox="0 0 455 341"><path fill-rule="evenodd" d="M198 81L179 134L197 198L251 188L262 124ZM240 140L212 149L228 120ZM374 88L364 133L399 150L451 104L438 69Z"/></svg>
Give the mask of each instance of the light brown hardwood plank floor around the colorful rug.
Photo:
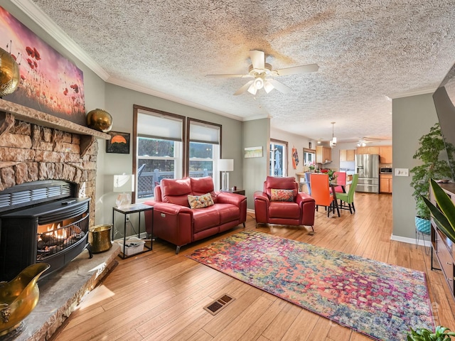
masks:
<svg viewBox="0 0 455 341"><path fill-rule="evenodd" d="M355 208L353 215L343 210L341 217L330 218L320 209L313 236L304 227L259 225L257 230L424 271L436 324L455 330L455 302L441 271L431 271L423 247L390 241L391 195L356 193ZM245 229L255 228L249 216ZM171 244L157 241L151 252L117 257L117 267L51 340L371 340L185 256L242 230L182 247L178 255ZM215 316L203 310L224 293L235 301Z"/></svg>

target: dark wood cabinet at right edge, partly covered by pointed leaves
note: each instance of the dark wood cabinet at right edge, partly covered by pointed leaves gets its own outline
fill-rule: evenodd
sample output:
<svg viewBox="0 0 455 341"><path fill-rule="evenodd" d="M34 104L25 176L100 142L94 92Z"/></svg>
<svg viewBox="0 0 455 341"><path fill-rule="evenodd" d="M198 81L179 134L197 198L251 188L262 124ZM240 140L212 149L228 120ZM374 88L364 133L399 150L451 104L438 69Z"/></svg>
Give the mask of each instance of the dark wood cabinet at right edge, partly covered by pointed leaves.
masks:
<svg viewBox="0 0 455 341"><path fill-rule="evenodd" d="M455 184L454 183L441 183L441 188L451 197L455 202ZM436 205L433 193L430 193L430 200ZM441 232L434 221L432 220L432 270L439 269L443 272L446 278L447 285L449 286L452 298L454 296L454 256L455 244ZM439 267L434 266L434 258L439 262Z"/></svg>

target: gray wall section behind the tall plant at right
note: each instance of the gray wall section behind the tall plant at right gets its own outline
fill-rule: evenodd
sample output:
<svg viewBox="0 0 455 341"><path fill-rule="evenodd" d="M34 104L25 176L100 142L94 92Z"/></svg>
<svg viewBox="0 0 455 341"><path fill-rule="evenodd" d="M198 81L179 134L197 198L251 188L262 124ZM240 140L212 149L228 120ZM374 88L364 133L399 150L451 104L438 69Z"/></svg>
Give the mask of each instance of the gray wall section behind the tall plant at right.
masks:
<svg viewBox="0 0 455 341"><path fill-rule="evenodd" d="M419 139L438 121L432 94L392 100L393 167L413 168L419 165L414 155ZM415 201L410 186L412 175L393 175L393 231L392 239L414 242L416 215Z"/></svg>

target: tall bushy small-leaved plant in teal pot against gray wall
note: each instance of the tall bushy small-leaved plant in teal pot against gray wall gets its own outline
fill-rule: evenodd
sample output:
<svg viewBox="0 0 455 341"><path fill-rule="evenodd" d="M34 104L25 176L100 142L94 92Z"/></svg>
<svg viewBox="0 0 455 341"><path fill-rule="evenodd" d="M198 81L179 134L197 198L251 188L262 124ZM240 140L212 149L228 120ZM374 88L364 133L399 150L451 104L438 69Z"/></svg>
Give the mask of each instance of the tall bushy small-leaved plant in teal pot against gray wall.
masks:
<svg viewBox="0 0 455 341"><path fill-rule="evenodd" d="M439 123L434 124L428 134L419 139L419 148L412 158L422 161L422 165L411 169L412 196L416 200L417 216L429 220L430 212L422 197L429 198L429 179L451 178L452 173L447 160L441 160L441 152L447 151L449 161L453 161L455 148L451 144L444 145Z"/></svg>

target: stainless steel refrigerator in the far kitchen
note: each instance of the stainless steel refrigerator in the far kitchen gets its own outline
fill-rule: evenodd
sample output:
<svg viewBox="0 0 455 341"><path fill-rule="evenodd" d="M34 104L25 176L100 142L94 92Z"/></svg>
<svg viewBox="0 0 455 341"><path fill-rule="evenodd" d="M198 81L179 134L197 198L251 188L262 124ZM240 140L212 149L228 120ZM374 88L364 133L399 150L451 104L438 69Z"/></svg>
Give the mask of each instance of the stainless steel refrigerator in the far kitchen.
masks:
<svg viewBox="0 0 455 341"><path fill-rule="evenodd" d="M356 192L379 193L379 155L355 156L355 173L358 174Z"/></svg>

